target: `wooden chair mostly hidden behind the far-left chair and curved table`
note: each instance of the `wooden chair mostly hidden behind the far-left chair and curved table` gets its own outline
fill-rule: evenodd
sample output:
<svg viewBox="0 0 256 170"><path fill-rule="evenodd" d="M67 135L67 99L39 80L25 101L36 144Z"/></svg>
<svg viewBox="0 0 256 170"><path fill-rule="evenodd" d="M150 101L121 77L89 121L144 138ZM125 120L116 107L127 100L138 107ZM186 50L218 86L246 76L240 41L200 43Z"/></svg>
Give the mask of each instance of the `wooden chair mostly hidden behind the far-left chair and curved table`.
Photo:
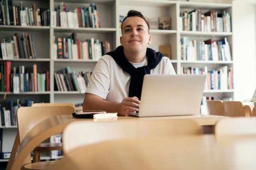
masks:
<svg viewBox="0 0 256 170"><path fill-rule="evenodd" d="M34 103L34 106L72 106L75 108L73 103ZM44 152L50 152L52 150L62 150L62 143L42 143L33 150L33 163L40 162L40 154Z"/></svg>

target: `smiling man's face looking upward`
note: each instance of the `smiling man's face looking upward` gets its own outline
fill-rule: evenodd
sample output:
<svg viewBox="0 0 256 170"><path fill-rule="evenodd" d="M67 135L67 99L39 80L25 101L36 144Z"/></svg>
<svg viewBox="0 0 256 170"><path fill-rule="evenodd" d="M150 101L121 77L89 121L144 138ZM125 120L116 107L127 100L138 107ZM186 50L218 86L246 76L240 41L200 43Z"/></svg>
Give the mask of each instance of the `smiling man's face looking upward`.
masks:
<svg viewBox="0 0 256 170"><path fill-rule="evenodd" d="M148 25L138 16L128 17L123 23L122 31L120 43L126 51L138 53L146 50L147 45L151 43Z"/></svg>

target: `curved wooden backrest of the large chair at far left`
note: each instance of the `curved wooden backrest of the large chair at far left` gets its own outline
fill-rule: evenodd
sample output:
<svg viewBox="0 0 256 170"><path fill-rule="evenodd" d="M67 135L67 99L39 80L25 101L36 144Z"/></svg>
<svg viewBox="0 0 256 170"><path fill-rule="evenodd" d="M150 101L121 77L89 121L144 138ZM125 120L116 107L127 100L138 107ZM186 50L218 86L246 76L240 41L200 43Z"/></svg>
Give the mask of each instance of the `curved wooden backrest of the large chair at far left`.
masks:
<svg viewBox="0 0 256 170"><path fill-rule="evenodd" d="M41 121L57 115L72 115L74 111L75 109L73 106L37 106L18 108L17 124L20 143L29 130ZM31 163L30 155L28 155L24 165L27 163Z"/></svg>

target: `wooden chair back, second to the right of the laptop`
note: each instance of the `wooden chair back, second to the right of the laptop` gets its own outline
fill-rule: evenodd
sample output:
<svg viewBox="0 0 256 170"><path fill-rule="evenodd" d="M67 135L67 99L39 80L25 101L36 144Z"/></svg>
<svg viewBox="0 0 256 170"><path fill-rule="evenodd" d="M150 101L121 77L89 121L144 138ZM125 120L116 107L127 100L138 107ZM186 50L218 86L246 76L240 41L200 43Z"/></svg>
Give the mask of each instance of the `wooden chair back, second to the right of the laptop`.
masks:
<svg viewBox="0 0 256 170"><path fill-rule="evenodd" d="M250 117L252 110L248 105L238 101L223 100L226 116L228 117Z"/></svg>

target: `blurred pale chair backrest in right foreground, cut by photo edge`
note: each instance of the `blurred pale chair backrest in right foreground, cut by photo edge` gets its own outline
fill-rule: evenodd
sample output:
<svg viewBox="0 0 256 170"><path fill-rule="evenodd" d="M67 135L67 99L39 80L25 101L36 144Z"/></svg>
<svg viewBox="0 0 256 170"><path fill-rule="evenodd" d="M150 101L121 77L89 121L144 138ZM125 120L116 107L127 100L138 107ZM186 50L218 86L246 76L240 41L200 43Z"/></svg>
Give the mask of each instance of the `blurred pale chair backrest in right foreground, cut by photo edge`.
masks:
<svg viewBox="0 0 256 170"><path fill-rule="evenodd" d="M256 135L256 117L220 119L215 125L215 135Z"/></svg>

